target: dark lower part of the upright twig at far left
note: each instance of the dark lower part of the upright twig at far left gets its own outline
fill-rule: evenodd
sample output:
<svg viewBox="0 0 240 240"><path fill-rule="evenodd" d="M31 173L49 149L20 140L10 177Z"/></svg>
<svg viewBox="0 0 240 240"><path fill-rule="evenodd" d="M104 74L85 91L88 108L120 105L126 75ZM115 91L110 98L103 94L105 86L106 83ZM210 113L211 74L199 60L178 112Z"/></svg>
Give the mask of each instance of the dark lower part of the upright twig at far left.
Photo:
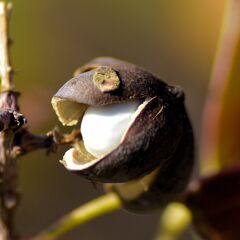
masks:
<svg viewBox="0 0 240 240"><path fill-rule="evenodd" d="M17 106L17 97L14 93L4 92L0 95L1 120L4 131L0 132L0 216L6 226L7 238L14 239L13 215L17 206L19 194L17 191L18 167L17 160L11 156L16 130L24 123L24 118L16 113L14 106ZM5 98L4 98L4 97ZM11 99L15 99L13 102ZM8 104L7 104L8 103ZM4 110L2 106L8 105ZM14 111L15 110L15 111ZM16 118L14 117L16 116ZM21 123L19 120L21 119ZM8 127L8 128L6 128ZM0 239L2 232L0 232Z"/></svg>

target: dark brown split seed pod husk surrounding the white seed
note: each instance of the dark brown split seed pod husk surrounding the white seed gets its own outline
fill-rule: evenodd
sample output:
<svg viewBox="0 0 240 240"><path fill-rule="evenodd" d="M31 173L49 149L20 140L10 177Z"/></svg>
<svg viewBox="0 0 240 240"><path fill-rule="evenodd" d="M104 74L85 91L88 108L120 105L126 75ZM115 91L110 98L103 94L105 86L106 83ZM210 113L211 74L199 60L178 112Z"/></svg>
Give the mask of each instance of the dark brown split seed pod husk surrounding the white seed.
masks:
<svg viewBox="0 0 240 240"><path fill-rule="evenodd" d="M131 101L141 104L118 146L95 157L81 140L65 154L63 163L89 180L116 183L111 188L129 209L155 208L182 191L191 173L193 136L183 92L133 64L97 58L59 89L52 105L59 120L71 126L81 123L89 107ZM125 189L143 179L144 187L130 197ZM145 202L154 196L154 204Z"/></svg>

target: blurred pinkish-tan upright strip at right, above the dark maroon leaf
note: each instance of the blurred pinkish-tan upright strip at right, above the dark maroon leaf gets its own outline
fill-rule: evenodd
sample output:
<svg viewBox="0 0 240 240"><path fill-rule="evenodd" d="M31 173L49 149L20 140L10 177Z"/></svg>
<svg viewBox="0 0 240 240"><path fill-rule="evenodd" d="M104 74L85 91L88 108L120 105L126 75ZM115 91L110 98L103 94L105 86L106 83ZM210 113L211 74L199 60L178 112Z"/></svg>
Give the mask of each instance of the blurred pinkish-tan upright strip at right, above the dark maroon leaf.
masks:
<svg viewBox="0 0 240 240"><path fill-rule="evenodd" d="M224 95L234 64L239 41L240 0L226 0L221 36L214 61L209 96L203 114L200 159L202 173L217 172L222 168L218 146Z"/></svg>

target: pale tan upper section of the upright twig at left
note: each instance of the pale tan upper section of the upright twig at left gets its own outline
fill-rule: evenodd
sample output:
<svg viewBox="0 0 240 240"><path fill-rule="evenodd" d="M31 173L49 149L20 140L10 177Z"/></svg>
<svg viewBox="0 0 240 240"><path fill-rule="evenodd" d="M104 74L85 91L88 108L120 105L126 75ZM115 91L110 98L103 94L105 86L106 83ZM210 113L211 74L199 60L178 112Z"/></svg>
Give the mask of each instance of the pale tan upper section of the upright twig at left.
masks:
<svg viewBox="0 0 240 240"><path fill-rule="evenodd" d="M2 92L10 91L14 88L8 50L8 21L11 8L11 4L0 2L0 73L2 78Z"/></svg>

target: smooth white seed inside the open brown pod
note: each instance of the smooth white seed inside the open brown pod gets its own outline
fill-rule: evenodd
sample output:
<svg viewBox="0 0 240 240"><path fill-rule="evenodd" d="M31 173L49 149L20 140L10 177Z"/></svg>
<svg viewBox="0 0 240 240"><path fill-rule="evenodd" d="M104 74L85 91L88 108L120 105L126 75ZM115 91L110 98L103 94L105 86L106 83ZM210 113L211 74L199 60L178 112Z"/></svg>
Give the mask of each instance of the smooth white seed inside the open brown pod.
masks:
<svg viewBox="0 0 240 240"><path fill-rule="evenodd" d="M132 118L141 101L102 107L89 107L85 112L81 133L85 148L95 157L101 157L116 148L131 125Z"/></svg>

